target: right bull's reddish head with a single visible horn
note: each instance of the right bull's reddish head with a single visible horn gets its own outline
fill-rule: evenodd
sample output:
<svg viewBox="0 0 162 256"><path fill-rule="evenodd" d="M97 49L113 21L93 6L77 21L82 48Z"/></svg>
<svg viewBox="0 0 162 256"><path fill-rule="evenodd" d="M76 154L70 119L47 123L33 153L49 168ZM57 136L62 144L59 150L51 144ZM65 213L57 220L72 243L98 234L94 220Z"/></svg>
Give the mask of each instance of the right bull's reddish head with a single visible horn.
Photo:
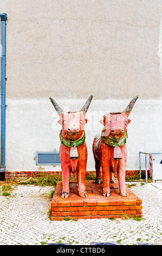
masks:
<svg viewBox="0 0 162 256"><path fill-rule="evenodd" d="M138 96L135 96L123 112L103 115L103 120L100 123L105 126L103 131L106 137L118 141L126 135L127 125L131 122L128 117L137 99Z"/></svg>

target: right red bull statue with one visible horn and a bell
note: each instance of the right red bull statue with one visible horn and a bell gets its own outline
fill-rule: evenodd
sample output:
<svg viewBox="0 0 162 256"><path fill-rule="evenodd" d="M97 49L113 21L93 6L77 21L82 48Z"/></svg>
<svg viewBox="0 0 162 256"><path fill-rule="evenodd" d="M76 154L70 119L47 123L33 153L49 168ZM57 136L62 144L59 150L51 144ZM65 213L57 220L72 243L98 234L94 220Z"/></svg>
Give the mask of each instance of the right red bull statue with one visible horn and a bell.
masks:
<svg viewBox="0 0 162 256"><path fill-rule="evenodd" d="M93 155L96 169L96 183L103 179L103 196L110 195L110 182L114 181L117 171L120 195L126 197L125 173L127 160L127 125L132 111L135 96L123 112L108 113L100 121L104 125L101 136L95 136L93 141Z"/></svg>

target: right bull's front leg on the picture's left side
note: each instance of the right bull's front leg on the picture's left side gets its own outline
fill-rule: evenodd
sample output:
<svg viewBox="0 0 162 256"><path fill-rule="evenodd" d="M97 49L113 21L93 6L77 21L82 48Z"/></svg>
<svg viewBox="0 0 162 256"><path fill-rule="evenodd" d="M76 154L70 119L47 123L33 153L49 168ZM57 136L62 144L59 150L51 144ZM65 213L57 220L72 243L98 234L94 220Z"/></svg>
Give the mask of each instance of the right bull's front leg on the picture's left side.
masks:
<svg viewBox="0 0 162 256"><path fill-rule="evenodd" d="M110 175L111 169L107 166L102 166L102 179L103 179L103 197L109 197L110 195Z"/></svg>

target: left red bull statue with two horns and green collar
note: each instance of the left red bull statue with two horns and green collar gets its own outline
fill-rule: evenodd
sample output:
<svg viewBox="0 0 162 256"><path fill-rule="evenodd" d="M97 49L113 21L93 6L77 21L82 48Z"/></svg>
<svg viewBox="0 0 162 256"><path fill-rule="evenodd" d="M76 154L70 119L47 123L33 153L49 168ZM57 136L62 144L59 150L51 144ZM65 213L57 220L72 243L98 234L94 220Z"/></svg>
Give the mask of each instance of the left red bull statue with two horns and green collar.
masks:
<svg viewBox="0 0 162 256"><path fill-rule="evenodd" d="M62 198L69 196L69 176L77 171L78 192L80 197L87 197L85 187L87 167L87 146L85 142L84 126L87 123L85 115L93 96L91 95L85 105L78 112L64 112L55 100L51 99L56 112L60 115L60 160L62 169Z"/></svg>

